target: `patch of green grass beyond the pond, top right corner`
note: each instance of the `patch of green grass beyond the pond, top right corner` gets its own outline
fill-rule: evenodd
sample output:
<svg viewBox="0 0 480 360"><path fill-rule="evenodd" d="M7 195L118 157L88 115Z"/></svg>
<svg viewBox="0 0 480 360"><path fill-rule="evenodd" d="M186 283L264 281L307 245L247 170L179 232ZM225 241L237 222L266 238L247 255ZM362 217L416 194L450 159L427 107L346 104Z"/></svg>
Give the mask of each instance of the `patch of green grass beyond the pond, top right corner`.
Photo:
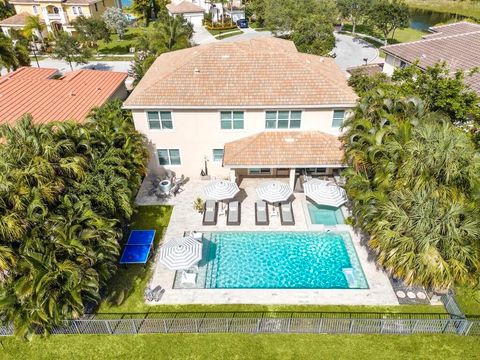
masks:
<svg viewBox="0 0 480 360"><path fill-rule="evenodd" d="M406 0L410 7L480 19L480 2L471 0Z"/></svg>

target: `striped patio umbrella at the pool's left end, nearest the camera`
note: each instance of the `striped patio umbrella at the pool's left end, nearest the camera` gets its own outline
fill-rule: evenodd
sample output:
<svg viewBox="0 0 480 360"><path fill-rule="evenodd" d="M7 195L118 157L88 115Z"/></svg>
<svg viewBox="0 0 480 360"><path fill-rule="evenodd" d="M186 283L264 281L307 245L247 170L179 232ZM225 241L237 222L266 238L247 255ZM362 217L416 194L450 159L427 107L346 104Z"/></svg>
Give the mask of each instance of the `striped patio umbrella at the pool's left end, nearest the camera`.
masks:
<svg viewBox="0 0 480 360"><path fill-rule="evenodd" d="M158 259L170 270L186 270L202 259L203 244L191 236L174 239L160 247Z"/></svg>

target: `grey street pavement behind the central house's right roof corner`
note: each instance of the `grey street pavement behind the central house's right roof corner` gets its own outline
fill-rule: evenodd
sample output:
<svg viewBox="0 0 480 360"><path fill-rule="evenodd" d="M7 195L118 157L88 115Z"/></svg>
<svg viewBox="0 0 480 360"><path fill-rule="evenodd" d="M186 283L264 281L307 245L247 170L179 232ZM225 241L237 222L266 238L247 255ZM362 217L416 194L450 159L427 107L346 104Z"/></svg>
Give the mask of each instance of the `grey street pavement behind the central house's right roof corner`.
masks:
<svg viewBox="0 0 480 360"><path fill-rule="evenodd" d="M356 39L352 36L335 33L336 44L332 53L337 56L335 62L342 70L349 67L365 64L364 59L368 59L368 63L377 62L378 50L366 41Z"/></svg>

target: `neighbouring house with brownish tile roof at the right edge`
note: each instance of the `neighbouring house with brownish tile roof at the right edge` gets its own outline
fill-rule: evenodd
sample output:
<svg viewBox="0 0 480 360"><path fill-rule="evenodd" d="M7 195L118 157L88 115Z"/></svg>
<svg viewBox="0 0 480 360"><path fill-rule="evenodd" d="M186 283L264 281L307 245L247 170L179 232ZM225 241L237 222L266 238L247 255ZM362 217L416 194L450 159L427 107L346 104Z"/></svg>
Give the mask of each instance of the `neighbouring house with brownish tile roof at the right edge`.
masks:
<svg viewBox="0 0 480 360"><path fill-rule="evenodd" d="M430 28L431 34L422 40L382 47L385 52L383 71L393 74L396 68L417 63L426 69L445 61L450 70L470 70L480 67L480 25L458 22ZM480 74L467 76L465 82L480 94Z"/></svg>

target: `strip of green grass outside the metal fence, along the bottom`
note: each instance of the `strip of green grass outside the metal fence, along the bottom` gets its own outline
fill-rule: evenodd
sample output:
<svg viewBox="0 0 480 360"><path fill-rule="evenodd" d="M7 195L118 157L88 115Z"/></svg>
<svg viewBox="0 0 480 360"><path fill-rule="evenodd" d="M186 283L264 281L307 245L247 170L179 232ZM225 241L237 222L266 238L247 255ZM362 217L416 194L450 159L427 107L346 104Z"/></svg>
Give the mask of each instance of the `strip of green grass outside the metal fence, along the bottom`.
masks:
<svg viewBox="0 0 480 360"><path fill-rule="evenodd" d="M478 359L478 337L456 335L149 334L5 338L10 359Z"/></svg>

